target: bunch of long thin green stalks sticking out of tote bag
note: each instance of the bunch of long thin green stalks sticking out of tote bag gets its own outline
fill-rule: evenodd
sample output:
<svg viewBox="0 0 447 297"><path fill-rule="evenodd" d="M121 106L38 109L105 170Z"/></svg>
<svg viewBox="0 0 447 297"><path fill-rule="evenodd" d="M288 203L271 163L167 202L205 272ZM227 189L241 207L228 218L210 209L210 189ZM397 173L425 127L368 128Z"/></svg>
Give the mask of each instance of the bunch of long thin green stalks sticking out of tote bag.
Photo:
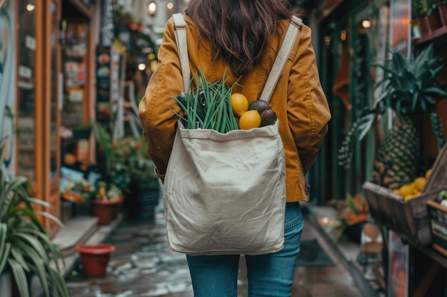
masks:
<svg viewBox="0 0 447 297"><path fill-rule="evenodd" d="M196 81L196 87L191 88ZM238 123L231 109L231 90L237 84L226 84L227 78L209 83L204 71L199 68L191 78L189 94L180 93L176 100L184 115L168 108L181 118L186 129L212 129L221 133L238 129Z"/></svg>

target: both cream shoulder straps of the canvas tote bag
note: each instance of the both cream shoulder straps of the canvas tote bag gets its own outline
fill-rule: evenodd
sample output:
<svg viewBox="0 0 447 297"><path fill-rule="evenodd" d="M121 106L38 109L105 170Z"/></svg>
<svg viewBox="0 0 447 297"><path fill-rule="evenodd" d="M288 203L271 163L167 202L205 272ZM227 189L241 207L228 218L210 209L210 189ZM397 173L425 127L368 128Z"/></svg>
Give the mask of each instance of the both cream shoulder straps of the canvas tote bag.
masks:
<svg viewBox="0 0 447 297"><path fill-rule="evenodd" d="M189 80L191 79L191 70L189 69L189 58L188 58L188 43L186 42L186 21L183 18L183 14L173 14L174 27L176 31L176 43L177 50L179 51L181 73L184 81L184 91L189 92ZM271 68L270 74L268 75L266 85L264 85L261 97L259 99L270 101L271 94L276 88L279 77L283 72L283 68L286 65L286 61L295 43L296 36L298 35L298 30L301 28L303 21L297 16L292 16L291 24L288 26L286 36L284 36L283 44L279 49L278 55L276 56L273 67Z"/></svg>

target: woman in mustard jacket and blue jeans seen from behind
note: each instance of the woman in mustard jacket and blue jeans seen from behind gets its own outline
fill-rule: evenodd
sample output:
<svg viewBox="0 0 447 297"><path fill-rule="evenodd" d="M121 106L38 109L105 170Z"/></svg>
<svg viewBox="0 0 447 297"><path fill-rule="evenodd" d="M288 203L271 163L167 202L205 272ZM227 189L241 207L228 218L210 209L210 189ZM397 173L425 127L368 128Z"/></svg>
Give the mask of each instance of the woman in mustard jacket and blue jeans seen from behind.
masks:
<svg viewBox="0 0 447 297"><path fill-rule="evenodd" d="M233 93L258 98L266 83L291 14L287 1L190 0L184 11L191 73L199 66L208 81L228 75ZM170 97L183 92L174 22L166 24L159 66L139 105L141 123L156 173L164 180L179 106ZM285 242L281 251L245 256L248 296L291 296L301 241L299 202L308 200L305 175L316 159L331 115L318 78L311 30L302 26L271 97L286 154ZM187 256L196 297L237 296L238 255Z"/></svg>

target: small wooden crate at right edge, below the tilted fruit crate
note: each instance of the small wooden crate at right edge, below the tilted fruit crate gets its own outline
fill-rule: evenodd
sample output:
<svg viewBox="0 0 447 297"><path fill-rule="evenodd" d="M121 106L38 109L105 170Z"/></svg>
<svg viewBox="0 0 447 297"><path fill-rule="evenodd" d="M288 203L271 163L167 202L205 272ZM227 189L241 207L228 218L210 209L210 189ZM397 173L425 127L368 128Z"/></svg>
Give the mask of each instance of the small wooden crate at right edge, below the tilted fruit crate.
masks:
<svg viewBox="0 0 447 297"><path fill-rule="evenodd" d="M447 256L447 207L431 200L428 200L426 204L431 231L431 245L433 249Z"/></svg>

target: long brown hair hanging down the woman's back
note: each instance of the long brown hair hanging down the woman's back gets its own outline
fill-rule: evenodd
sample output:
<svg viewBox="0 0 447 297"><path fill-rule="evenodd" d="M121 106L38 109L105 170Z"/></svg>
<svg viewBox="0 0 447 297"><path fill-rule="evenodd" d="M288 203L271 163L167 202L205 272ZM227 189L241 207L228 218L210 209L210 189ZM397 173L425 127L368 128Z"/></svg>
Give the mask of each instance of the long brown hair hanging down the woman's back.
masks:
<svg viewBox="0 0 447 297"><path fill-rule="evenodd" d="M213 59L224 58L234 75L253 69L278 21L289 19L287 0L190 0L185 10L199 34L211 40ZM199 35L199 36L200 36Z"/></svg>

